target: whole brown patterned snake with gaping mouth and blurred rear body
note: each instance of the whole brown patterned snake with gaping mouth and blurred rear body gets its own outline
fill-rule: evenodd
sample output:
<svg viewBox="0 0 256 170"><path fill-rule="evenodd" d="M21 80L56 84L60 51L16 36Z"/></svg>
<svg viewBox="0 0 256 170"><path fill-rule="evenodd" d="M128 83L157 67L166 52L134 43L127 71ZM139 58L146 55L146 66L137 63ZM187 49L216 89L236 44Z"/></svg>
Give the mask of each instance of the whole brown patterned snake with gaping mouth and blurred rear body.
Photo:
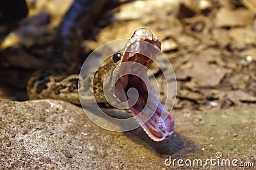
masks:
<svg viewBox="0 0 256 170"><path fill-rule="evenodd" d="M61 62L53 59L52 63L56 64L54 68L57 68L57 70L58 67L61 67L60 70L66 70L68 72L69 68L75 66L74 63L76 62L72 62L72 59L77 60L76 49L79 44L79 29L76 29L76 24L72 24L73 22L70 22L70 19L77 20L81 18L81 13L86 13L87 11L80 10L82 12L77 13L77 6L83 6L83 4L86 5L90 2L75 1L66 16L69 20L64 19L61 23L58 31L58 39L59 43L64 43L62 46L67 48L54 48L57 49L54 55L62 56L63 58L61 59L67 65L60 65ZM64 38L61 39L61 35ZM68 37L68 40L65 40L65 37ZM154 50L152 50L152 47L150 48L150 45L143 45L141 42L147 42L154 47ZM35 72L31 75L27 85L29 100L48 98L63 100L76 105L81 105L81 103L90 105L92 102L97 102L102 109L104 107L105 111L111 113L116 108L113 108L109 104L104 93L104 86L108 84L110 89L115 91L111 96L119 102L125 102L129 98L129 89L134 88L138 91L137 101L127 109L117 108L117 110L133 116L153 141L163 141L170 137L175 129L172 115L166 111L161 102L155 97L154 92L150 87L148 89L140 77L136 75L118 77L118 75L127 69L138 72L140 75L147 75L147 69L136 68L134 65L128 66L127 68L127 66L122 66L122 64L132 62L149 68L154 63L153 60L157 57L156 51L159 50L161 51L161 41L157 36L153 35L150 29L136 29L129 41L125 44L124 49L110 56L110 59L100 65L96 72L89 72L86 75L68 74L68 72L67 74L59 75L60 72L54 69L51 70L51 67L48 70ZM143 55L143 53L147 53L150 58ZM146 105L147 103L149 105ZM145 108L146 106L148 108ZM162 113L167 115L164 120L161 120ZM142 116L138 116L139 114ZM122 117L120 114L120 118Z"/></svg>

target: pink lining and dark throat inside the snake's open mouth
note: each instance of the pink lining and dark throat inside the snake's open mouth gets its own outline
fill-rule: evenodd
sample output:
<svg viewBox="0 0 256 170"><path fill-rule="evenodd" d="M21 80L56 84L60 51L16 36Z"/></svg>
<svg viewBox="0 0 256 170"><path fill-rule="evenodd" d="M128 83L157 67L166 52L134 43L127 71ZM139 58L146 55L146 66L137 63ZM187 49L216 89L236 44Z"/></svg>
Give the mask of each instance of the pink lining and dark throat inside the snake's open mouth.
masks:
<svg viewBox="0 0 256 170"><path fill-rule="evenodd" d="M134 54L127 60L136 61L147 67L152 63L151 59L148 59L142 54ZM146 72L146 70L141 70L141 72L143 71ZM156 97L152 97L152 95L154 95L152 94L153 92L147 90L145 82L143 82L140 77L137 77L136 75L124 75L117 81L116 84L118 84L118 86L115 87L116 97L123 102L127 100L128 89L137 89L139 93L138 101L129 109L129 112L131 112L132 116L135 116L136 121L140 123L151 139L154 141L162 141L173 133L175 128L173 117L168 111L166 111L166 109L164 109L163 105L157 100ZM145 109L147 102L149 103L150 107ZM143 111L143 109L145 110ZM160 121L162 112L168 116L165 120Z"/></svg>

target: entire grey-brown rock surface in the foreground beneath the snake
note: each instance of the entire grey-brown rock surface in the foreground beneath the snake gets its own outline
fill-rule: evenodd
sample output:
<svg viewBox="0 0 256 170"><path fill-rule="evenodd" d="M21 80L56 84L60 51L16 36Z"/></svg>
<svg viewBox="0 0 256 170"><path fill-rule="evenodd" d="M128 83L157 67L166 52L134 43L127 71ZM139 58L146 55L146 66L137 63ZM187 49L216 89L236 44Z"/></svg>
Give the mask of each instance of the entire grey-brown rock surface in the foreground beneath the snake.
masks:
<svg viewBox="0 0 256 170"><path fill-rule="evenodd" d="M219 160L256 166L256 105L173 116L175 134L156 143L141 128L123 133L97 127L67 102L0 100L0 169L169 169L169 156L204 161L216 152Z"/></svg>

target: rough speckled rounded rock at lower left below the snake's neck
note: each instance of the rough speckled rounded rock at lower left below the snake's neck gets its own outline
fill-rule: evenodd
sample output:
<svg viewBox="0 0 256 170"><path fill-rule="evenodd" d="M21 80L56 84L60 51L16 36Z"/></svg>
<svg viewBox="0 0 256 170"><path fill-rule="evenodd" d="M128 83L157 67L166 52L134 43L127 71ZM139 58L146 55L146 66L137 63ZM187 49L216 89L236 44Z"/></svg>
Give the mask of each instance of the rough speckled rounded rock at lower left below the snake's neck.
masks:
<svg viewBox="0 0 256 170"><path fill-rule="evenodd" d="M104 130L80 107L54 100L0 100L0 120L0 169L154 169L163 161L152 148L171 143L151 141L142 128L134 135Z"/></svg>

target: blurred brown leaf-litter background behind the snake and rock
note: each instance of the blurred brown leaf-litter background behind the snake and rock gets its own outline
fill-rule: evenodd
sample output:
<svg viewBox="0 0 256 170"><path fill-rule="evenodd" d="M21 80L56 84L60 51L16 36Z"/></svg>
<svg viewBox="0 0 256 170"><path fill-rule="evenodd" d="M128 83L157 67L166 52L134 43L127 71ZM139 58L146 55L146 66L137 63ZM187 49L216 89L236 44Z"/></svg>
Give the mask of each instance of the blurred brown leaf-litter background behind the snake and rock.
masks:
<svg viewBox="0 0 256 170"><path fill-rule="evenodd" d="M78 72L100 45L147 27L177 76L174 109L256 102L255 1L4 0L0 12L1 98L28 100L36 70L74 55Z"/></svg>

